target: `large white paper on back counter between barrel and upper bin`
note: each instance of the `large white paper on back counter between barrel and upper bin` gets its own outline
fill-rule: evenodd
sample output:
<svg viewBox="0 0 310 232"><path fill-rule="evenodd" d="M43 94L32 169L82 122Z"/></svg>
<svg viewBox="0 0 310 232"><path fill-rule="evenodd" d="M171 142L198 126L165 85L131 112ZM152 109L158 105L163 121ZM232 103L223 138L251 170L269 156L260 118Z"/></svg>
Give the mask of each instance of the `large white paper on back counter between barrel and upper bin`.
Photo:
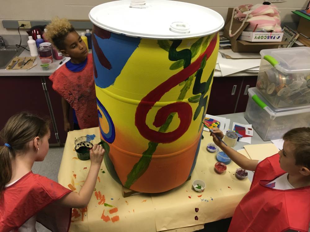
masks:
<svg viewBox="0 0 310 232"><path fill-rule="evenodd" d="M260 59L226 59L221 54L218 54L217 61L223 76L260 65Z"/></svg>

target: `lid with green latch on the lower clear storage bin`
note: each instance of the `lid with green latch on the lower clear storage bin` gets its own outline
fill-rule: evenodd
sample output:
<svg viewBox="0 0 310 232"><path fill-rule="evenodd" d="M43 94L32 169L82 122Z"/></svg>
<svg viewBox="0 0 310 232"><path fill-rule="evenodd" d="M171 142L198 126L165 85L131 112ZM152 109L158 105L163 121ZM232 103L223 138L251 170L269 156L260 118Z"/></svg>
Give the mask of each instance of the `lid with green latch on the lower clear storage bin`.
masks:
<svg viewBox="0 0 310 232"><path fill-rule="evenodd" d="M273 107L259 92L256 87L249 88L249 97L252 98L257 105L266 110L270 114L270 118L286 116L292 114L300 114L310 112L310 105L293 106L293 107ZM255 96L255 97L253 97Z"/></svg>

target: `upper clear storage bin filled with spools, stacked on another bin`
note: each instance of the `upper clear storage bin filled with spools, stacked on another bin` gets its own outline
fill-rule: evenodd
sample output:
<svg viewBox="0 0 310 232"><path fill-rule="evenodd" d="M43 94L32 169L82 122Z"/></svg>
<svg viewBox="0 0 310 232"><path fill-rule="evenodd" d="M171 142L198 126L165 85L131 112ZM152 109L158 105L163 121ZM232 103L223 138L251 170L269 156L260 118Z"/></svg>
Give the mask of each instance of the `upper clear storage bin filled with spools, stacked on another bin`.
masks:
<svg viewBox="0 0 310 232"><path fill-rule="evenodd" d="M310 48L263 49L256 88L272 106L310 103Z"/></svg>

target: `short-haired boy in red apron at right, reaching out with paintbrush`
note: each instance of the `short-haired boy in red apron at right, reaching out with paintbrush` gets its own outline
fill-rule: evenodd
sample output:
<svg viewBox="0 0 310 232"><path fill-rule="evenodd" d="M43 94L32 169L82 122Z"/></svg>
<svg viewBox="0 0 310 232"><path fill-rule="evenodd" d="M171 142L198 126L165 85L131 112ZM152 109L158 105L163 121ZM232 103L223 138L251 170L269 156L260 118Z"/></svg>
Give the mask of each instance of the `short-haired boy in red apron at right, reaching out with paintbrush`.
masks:
<svg viewBox="0 0 310 232"><path fill-rule="evenodd" d="M310 127L283 135L283 149L263 161L250 160L218 140L213 141L237 165L255 171L250 191L233 214L229 232L308 232L310 222Z"/></svg>

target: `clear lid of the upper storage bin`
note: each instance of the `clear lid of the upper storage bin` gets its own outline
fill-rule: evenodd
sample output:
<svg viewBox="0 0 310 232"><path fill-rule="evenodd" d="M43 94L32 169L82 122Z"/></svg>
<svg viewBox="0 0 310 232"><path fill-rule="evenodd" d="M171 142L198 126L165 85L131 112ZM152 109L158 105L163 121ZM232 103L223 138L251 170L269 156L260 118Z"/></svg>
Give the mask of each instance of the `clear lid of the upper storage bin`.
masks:
<svg viewBox="0 0 310 232"><path fill-rule="evenodd" d="M284 73L310 72L310 47L263 49L262 57L272 56L276 62L274 67Z"/></svg>

